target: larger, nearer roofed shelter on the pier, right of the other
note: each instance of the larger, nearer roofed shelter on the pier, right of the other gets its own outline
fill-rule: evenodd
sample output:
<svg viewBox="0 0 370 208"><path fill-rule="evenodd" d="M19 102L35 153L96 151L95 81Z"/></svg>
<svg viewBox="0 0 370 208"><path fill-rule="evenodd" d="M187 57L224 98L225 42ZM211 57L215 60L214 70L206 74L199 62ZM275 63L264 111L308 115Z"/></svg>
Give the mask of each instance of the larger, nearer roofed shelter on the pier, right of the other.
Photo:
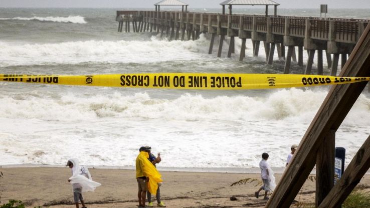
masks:
<svg viewBox="0 0 370 208"><path fill-rule="evenodd" d="M266 16L268 16L268 7L269 5L274 6L274 15L277 15L277 6L280 4L271 1L271 0L226 0L225 2L222 2L220 5L222 5L222 14L225 15L225 5L229 5L229 14L232 14L232 6L233 5L265 5L266 6Z"/></svg>

